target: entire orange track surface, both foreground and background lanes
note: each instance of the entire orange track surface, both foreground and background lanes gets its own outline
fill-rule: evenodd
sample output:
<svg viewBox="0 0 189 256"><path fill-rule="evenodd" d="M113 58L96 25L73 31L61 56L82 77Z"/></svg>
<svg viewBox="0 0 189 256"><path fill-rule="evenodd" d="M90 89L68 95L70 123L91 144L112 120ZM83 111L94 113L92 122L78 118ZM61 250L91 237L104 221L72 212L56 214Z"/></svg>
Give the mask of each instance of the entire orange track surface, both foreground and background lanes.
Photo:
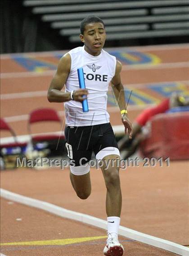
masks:
<svg viewBox="0 0 189 256"><path fill-rule="evenodd" d="M182 90L185 90L186 93L189 91L189 83L185 82L189 80L189 46L135 49L156 55L161 59L161 64L131 66L123 63L121 77L128 88L140 89L149 93L157 101L163 99L164 95L157 91L149 92L146 85L157 82L182 81ZM24 135L27 134L28 114L34 108L54 107L58 111L63 110L61 104L50 104L46 99L46 91L54 71L27 73L22 66L6 58L7 56L2 57L1 94L4 99L1 101L1 117L6 118L17 135ZM55 58L44 56L40 58L57 64ZM145 88L141 89L143 87ZM174 91L174 87L171 90ZM37 91L36 96L35 94L31 96L20 94ZM118 118L118 109L109 104L108 111L111 115L112 125L121 124L121 120ZM130 118L133 120L140 111L141 106L136 105L134 108L131 106ZM53 129L55 129L54 125L51 125L47 131ZM41 126L34 127L33 132L41 132ZM7 135L2 134L2 136ZM138 168L130 167L120 170L123 194L121 225L182 245L189 245L189 230L187 229L189 226L189 210L187 208L189 161L171 162L170 167L166 167L165 163L163 167L156 166L154 168L144 168L142 165L143 163ZM92 194L86 201L76 197L68 180L68 170L60 169L38 171L17 169L1 172L1 187L4 189L48 201L69 210L106 219L105 185L100 170L91 170ZM99 198L101 198L100 201ZM6 200L1 200L1 203L2 243L106 235L104 230L62 219L41 210L17 203L8 204ZM17 218L22 220L15 220ZM120 238L120 240L124 239ZM2 246L1 252L7 256L100 256L104 243L105 238L61 246ZM134 241L123 241L122 243L126 248L125 255L127 256L174 255L171 252Z"/></svg>

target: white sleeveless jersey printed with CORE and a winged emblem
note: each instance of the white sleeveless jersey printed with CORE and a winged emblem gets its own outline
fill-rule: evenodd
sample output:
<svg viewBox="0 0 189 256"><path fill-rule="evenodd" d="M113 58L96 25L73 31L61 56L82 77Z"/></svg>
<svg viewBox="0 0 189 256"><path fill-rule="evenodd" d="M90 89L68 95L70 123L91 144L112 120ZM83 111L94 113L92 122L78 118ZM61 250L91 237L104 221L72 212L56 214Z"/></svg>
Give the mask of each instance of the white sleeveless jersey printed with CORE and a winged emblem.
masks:
<svg viewBox="0 0 189 256"><path fill-rule="evenodd" d="M68 126L88 126L109 122L107 112L108 84L115 75L116 58L101 50L100 55L93 56L83 47L68 52L71 56L71 69L66 81L65 91L79 89L77 69L83 68L89 112L83 112L82 103L64 102L66 124Z"/></svg>

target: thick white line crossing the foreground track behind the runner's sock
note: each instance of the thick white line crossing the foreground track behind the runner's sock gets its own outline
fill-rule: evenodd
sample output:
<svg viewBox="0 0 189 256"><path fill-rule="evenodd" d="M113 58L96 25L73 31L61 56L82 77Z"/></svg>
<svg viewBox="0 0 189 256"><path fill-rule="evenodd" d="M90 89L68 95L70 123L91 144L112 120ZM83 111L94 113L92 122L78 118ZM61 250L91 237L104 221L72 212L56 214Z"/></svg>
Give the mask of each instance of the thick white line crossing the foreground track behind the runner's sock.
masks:
<svg viewBox="0 0 189 256"><path fill-rule="evenodd" d="M89 224L101 229L107 230L107 221L103 219L99 219L90 215L82 214L76 211L67 210L60 206L56 206L53 204L50 204L45 201L40 201L37 199L33 199L30 197L24 197L22 195L7 191L3 188L0 189L0 196L11 200L16 201L18 203L21 203L23 205L35 207L37 209L45 210L47 212L50 212L54 215L67 218L67 219L74 219L76 221L80 221L85 224ZM181 256L188 256L189 255L189 248L184 247L180 244L177 244L175 242L170 242L165 239L156 238L153 236L150 236L148 234L144 234L138 231L135 231L133 229L128 229L123 226L120 226L119 228L119 234L121 236L124 236L126 238L133 239L138 242L143 242L148 245L152 245L154 247L162 248L166 251L171 251L173 253L179 254Z"/></svg>

